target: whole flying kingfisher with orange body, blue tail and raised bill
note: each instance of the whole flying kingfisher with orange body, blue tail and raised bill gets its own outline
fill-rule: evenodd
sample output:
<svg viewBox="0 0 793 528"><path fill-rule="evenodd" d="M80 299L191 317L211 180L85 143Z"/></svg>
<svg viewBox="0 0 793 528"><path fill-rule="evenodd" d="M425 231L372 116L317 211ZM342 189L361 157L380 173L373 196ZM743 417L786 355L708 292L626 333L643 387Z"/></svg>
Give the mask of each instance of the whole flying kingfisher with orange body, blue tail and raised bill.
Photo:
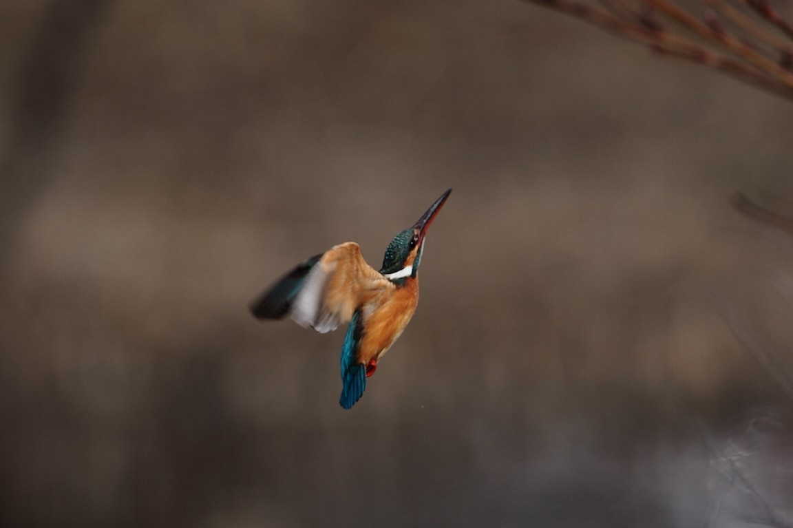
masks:
<svg viewBox="0 0 793 528"><path fill-rule="evenodd" d="M394 236L379 271L364 260L357 243L345 242L307 258L251 303L257 319L289 315L322 334L347 324L339 398L345 409L360 400L366 378L416 312L424 237L450 193L448 189L416 224Z"/></svg>

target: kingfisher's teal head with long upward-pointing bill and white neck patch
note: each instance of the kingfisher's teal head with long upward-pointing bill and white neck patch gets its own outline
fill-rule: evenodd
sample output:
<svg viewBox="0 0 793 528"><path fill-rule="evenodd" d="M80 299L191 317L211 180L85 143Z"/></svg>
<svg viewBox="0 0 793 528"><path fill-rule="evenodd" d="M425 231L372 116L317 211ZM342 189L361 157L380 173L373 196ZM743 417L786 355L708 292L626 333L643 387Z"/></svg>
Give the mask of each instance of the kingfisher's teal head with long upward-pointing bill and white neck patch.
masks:
<svg viewBox="0 0 793 528"><path fill-rule="evenodd" d="M421 263L421 252L424 247L424 236L430 228L432 220L441 210L443 202L451 194L451 189L443 193L435 203L427 209L419 221L412 227L400 231L389 243L383 257L383 266L380 273L388 277L389 281L404 284L408 277L416 277Z"/></svg>

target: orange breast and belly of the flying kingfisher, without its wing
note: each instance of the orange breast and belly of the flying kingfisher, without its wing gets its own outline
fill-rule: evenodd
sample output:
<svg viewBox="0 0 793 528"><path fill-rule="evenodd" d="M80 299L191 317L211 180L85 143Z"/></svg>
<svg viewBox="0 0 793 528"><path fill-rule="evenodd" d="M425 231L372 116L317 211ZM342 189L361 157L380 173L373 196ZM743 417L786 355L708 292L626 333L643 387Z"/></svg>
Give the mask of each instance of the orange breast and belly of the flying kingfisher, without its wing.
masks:
<svg viewBox="0 0 793 528"><path fill-rule="evenodd" d="M390 295L371 299L364 304L364 331L358 346L358 362L367 364L389 350L408 326L419 303L419 279L406 281L404 287Z"/></svg>

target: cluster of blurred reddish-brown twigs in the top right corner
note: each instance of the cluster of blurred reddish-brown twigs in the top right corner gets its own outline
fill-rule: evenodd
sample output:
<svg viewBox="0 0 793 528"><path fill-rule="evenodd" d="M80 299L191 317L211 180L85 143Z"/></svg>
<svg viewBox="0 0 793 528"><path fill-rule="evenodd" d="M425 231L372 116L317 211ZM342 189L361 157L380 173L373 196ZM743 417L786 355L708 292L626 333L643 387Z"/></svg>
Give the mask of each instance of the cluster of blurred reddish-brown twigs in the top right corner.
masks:
<svg viewBox="0 0 793 528"><path fill-rule="evenodd" d="M766 0L703 0L701 17L673 0L526 1L793 101L793 27Z"/></svg>

